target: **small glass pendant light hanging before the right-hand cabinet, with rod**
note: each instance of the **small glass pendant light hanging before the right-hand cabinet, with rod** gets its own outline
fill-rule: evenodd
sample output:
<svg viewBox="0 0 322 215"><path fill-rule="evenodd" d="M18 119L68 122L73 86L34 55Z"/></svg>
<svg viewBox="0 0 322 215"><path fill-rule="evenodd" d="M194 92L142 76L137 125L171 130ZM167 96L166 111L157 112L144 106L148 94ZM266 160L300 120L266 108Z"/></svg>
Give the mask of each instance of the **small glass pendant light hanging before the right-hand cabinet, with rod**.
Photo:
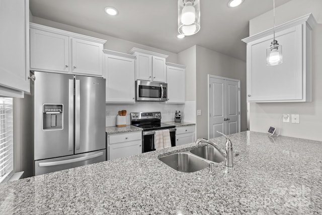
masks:
<svg viewBox="0 0 322 215"><path fill-rule="evenodd" d="M271 45L266 49L266 64L267 65L278 65L283 62L282 46L275 40L275 0L273 0L273 14L274 14L274 25L273 34L274 39Z"/></svg>

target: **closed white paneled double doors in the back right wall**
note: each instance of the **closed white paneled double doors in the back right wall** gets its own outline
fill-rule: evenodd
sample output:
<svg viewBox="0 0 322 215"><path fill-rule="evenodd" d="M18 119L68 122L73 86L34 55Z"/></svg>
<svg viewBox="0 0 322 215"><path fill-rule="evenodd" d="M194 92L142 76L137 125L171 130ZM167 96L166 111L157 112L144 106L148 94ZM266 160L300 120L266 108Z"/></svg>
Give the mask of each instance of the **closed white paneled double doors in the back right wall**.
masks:
<svg viewBox="0 0 322 215"><path fill-rule="evenodd" d="M237 133L240 130L239 80L208 75L208 137Z"/></svg>

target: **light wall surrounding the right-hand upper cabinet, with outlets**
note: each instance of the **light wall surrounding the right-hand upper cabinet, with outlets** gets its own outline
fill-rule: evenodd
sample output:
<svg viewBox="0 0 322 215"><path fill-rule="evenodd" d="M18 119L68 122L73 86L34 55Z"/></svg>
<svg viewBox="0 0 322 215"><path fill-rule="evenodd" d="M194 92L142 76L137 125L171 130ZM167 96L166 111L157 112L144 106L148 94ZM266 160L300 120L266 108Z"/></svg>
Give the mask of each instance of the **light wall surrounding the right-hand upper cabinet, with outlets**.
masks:
<svg viewBox="0 0 322 215"><path fill-rule="evenodd" d="M322 140L322 1L292 0L276 9L276 23L279 25L308 13L319 23L312 31L312 102L251 103L252 131L266 132L270 125L279 127L283 113L299 114L300 124L281 123L281 135ZM272 19L272 12L268 12L251 20L250 35L271 28Z"/></svg>

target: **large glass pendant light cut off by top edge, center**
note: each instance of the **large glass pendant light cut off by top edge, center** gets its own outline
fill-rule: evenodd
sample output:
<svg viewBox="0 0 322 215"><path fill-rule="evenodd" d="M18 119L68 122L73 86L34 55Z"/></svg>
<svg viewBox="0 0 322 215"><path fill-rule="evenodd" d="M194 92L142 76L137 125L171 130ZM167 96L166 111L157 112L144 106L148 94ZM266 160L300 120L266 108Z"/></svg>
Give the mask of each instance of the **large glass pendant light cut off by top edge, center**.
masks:
<svg viewBox="0 0 322 215"><path fill-rule="evenodd" d="M200 0L178 0L178 32L185 36L200 30Z"/></svg>

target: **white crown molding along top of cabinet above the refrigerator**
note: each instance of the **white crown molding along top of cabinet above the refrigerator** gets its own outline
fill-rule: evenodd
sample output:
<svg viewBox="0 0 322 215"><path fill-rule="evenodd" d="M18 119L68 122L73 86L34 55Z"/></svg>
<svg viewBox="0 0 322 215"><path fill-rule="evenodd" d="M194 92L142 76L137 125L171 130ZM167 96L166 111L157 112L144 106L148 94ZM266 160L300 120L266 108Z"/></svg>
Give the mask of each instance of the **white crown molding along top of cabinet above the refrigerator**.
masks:
<svg viewBox="0 0 322 215"><path fill-rule="evenodd" d="M38 29L38 30L42 30L42 31L48 31L48 32L56 33L56 34L61 34L61 35L65 35L65 36L69 36L69 37L73 37L73 38L77 38L77 39L86 39L88 41L92 41L92 42L96 42L96 43L101 43L101 44L106 43L106 40L103 40L103 39L85 36L83 34L72 33L72 32L60 30L57 28L39 25L36 23L29 23L29 27L34 28L34 29Z"/></svg>

